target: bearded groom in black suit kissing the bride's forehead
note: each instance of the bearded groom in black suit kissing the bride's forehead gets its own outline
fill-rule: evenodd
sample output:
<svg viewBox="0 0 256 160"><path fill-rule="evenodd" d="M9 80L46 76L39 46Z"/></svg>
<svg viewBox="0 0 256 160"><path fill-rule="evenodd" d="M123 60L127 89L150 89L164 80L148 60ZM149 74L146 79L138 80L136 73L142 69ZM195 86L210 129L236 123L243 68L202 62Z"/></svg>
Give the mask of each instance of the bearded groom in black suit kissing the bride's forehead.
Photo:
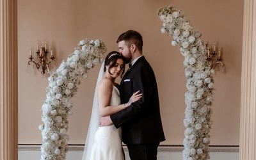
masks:
<svg viewBox="0 0 256 160"><path fill-rule="evenodd" d="M121 102L127 103L132 93L140 90L141 100L100 120L101 126L114 124L122 127L122 140L127 145L131 160L157 159L157 147L164 141L156 77L142 53L140 33L129 30L116 41L119 52L130 62L120 83Z"/></svg>

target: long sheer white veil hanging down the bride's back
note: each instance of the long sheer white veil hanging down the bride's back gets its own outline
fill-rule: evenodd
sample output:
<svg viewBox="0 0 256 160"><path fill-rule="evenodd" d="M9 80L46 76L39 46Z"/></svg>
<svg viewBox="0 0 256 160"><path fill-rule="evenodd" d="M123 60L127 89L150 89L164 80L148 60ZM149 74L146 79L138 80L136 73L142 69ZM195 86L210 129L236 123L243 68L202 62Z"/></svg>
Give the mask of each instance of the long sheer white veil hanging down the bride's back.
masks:
<svg viewBox="0 0 256 160"><path fill-rule="evenodd" d="M82 160L90 159L90 156L92 154L94 135L95 135L95 132L97 131L97 128L99 127L100 114L99 114L99 108L98 108L98 86L99 86L100 80L104 76L104 64L105 64L105 61L103 61L100 67L97 84L95 86L93 106L92 106L92 116L91 116L90 125L87 132L86 142L84 145L84 153L83 153Z"/></svg>

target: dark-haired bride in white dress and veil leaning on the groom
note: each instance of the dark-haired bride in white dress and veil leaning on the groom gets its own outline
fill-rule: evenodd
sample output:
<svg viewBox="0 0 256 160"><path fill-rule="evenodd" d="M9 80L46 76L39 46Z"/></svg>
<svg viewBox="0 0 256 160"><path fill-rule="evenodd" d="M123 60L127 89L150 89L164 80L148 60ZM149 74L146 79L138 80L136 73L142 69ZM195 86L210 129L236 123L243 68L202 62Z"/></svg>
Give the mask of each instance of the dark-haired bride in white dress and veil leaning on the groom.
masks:
<svg viewBox="0 0 256 160"><path fill-rule="evenodd" d="M129 102L120 104L120 93L115 79L123 76L125 62L122 54L112 51L102 63L82 160L124 159L121 129L116 129L115 125L99 127L99 118L112 115L141 99L142 94L138 91L132 95Z"/></svg>

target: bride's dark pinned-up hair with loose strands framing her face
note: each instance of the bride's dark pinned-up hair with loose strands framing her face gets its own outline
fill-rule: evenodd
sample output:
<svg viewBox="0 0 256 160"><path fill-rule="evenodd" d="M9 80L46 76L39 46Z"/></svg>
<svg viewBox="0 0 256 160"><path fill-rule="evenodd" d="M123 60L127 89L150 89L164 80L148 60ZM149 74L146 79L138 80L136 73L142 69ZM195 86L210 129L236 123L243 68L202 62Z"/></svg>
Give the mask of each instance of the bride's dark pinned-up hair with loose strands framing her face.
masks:
<svg viewBox="0 0 256 160"><path fill-rule="evenodd" d="M104 72L106 72L107 66L109 67L108 72L109 72L110 68L115 67L116 60L118 60L118 59L122 59L124 61L124 64L128 63L126 58L122 54L120 54L120 52L117 52L117 51L109 52L108 56L106 56L106 59L105 59ZM125 70L125 66L124 66L124 70ZM124 70L123 70L122 74L120 75L120 77L122 77L124 75ZM111 74L111 73L109 72L109 74Z"/></svg>

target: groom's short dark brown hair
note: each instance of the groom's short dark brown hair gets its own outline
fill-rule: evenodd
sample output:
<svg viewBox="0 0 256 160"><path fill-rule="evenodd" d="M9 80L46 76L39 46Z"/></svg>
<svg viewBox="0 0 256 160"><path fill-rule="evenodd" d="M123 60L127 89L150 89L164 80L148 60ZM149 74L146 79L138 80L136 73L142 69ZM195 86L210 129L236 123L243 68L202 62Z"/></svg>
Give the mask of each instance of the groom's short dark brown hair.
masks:
<svg viewBox="0 0 256 160"><path fill-rule="evenodd" d="M138 31L134 31L134 30L125 31L125 33L122 33L117 38L116 43L122 40L125 41L125 45L127 45L128 47L131 47L132 44L135 44L138 50L142 52L143 40L142 40L142 36L140 35L140 33L138 33Z"/></svg>

